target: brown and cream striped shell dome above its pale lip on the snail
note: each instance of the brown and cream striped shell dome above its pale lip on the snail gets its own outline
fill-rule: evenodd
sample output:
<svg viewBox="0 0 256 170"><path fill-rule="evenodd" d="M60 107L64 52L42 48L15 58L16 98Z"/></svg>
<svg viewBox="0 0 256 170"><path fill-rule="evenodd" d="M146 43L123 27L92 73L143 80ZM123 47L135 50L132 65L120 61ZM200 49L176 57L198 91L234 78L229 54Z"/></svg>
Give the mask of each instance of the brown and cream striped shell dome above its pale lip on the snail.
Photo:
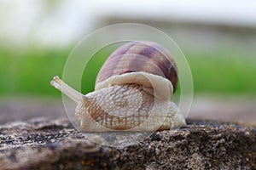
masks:
<svg viewBox="0 0 256 170"><path fill-rule="evenodd" d="M171 81L175 91L177 65L172 55L160 44L146 41L128 42L117 48L98 73L96 87L110 77L142 71Z"/></svg>

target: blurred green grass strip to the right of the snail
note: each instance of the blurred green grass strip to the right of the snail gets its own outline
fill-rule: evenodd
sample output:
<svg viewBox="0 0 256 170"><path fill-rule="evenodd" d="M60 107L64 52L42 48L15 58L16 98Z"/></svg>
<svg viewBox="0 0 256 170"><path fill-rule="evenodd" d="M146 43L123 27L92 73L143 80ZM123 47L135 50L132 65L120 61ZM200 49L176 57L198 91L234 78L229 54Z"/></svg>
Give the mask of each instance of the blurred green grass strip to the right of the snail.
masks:
<svg viewBox="0 0 256 170"><path fill-rule="evenodd" d="M256 94L256 59L243 54L190 53L195 93Z"/></svg>

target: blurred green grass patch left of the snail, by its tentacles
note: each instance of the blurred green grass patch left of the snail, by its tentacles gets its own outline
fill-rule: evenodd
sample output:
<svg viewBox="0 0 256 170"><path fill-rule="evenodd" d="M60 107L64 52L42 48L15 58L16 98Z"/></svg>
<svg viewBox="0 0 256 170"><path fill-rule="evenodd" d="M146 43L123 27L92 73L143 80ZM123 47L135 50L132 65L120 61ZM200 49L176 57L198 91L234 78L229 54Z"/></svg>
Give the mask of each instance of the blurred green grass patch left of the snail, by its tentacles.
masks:
<svg viewBox="0 0 256 170"><path fill-rule="evenodd" d="M53 49L1 50L0 94L55 94L49 81L61 75L68 53Z"/></svg>

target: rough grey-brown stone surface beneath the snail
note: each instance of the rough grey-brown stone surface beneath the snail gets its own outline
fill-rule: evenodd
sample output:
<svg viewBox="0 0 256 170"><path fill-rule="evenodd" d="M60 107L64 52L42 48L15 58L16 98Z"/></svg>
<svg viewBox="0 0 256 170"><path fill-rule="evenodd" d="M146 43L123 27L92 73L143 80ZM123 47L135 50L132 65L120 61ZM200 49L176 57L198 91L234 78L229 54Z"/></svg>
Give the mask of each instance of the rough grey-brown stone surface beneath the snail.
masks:
<svg viewBox="0 0 256 170"><path fill-rule="evenodd" d="M256 128L189 120L177 131L110 148L85 139L66 119L0 126L1 169L256 169Z"/></svg>

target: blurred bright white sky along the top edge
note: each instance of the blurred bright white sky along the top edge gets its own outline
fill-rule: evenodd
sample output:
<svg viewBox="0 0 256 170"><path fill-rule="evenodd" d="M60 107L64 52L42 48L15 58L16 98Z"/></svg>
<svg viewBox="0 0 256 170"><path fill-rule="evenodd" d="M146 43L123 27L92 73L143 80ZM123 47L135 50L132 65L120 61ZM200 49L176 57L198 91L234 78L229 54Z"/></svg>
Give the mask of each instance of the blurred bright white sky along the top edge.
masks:
<svg viewBox="0 0 256 170"><path fill-rule="evenodd" d="M22 44L67 45L102 18L177 20L256 29L254 0L0 0L0 38ZM102 24L100 24L102 25Z"/></svg>

